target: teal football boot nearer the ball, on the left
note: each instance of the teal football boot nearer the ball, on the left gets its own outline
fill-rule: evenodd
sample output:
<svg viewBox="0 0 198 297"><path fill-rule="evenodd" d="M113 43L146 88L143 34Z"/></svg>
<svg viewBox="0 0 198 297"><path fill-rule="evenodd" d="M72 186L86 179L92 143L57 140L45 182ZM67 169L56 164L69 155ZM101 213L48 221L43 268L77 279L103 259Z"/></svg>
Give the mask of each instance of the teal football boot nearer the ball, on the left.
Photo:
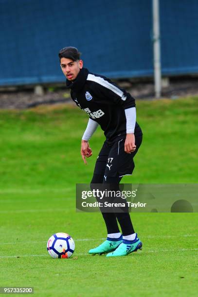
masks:
<svg viewBox="0 0 198 297"><path fill-rule="evenodd" d="M104 241L100 246L91 248L89 250L89 254L95 255L95 254L107 254L111 251L114 251L121 243L123 242L122 235L119 238L109 238L107 237L107 240Z"/></svg>

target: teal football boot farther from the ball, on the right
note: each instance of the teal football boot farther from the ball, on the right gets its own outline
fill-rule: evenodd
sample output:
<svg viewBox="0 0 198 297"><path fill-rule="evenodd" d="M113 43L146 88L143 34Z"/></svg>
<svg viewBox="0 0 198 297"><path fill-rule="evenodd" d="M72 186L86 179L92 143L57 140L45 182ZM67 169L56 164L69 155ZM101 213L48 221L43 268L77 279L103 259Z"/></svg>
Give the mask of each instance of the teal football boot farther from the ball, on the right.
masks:
<svg viewBox="0 0 198 297"><path fill-rule="evenodd" d="M143 244L136 234L134 240L123 239L119 247L117 247L115 251L108 253L106 257L127 256L128 254L135 252L138 249L142 249L142 246Z"/></svg>

